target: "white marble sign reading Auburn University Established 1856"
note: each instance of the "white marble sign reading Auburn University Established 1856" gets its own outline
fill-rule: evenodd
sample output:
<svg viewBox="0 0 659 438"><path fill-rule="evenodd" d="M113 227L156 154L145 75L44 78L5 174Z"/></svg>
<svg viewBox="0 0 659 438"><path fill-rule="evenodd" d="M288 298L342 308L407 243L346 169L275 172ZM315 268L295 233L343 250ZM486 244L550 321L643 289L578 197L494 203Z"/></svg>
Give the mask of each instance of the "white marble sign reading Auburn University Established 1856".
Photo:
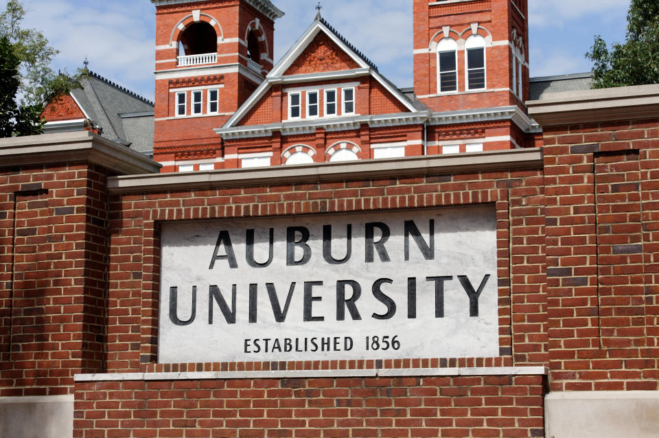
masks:
<svg viewBox="0 0 659 438"><path fill-rule="evenodd" d="M493 206L170 222L159 361L498 356Z"/></svg>

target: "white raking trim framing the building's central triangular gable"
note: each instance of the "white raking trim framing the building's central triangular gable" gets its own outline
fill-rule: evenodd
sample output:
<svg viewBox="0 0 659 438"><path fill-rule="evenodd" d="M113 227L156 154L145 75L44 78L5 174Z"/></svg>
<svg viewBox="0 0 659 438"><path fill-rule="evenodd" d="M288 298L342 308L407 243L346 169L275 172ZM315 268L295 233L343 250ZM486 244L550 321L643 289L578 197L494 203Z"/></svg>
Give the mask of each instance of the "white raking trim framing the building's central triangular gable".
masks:
<svg viewBox="0 0 659 438"><path fill-rule="evenodd" d="M319 72L319 73L308 73L300 75L286 75L286 71L292 64L303 54L305 49L314 41L316 36L319 33L323 32L329 37L330 40L339 49L343 50L356 64L358 65L357 69L351 69L347 71L335 71L335 72ZM277 62L272 71L266 76L266 80L261 83L261 85L252 93L252 95L238 108L229 120L224 124L221 129L231 128L236 126L238 122L259 102L259 100L266 95L267 91L273 86L273 84L281 83L294 83L294 82L312 82L319 80L329 80L329 79L338 79L338 78L349 78L349 77L358 77L371 75L375 80L380 82L382 86L393 95L397 100L399 100L406 108L411 112L417 112L420 108L417 108L415 105L406 98L406 96L400 92L389 80L386 80L383 76L378 73L378 67L369 60L361 51L356 49L354 45L349 43L347 38L338 33L334 27L329 25L325 19L323 19L320 14L316 15L314 22L308 27L307 30L298 38L298 40L286 51L286 54ZM216 130L217 132L218 130ZM218 132L219 133L219 132Z"/></svg>

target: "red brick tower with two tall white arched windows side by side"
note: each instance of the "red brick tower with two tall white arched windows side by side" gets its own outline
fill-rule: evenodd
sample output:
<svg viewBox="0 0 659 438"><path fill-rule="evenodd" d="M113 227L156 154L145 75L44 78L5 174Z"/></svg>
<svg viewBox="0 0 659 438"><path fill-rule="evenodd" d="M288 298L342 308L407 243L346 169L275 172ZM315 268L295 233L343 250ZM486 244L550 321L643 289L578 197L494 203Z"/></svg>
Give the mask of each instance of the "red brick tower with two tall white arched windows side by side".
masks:
<svg viewBox="0 0 659 438"><path fill-rule="evenodd" d="M528 0L414 0L414 88L433 111L524 107Z"/></svg>

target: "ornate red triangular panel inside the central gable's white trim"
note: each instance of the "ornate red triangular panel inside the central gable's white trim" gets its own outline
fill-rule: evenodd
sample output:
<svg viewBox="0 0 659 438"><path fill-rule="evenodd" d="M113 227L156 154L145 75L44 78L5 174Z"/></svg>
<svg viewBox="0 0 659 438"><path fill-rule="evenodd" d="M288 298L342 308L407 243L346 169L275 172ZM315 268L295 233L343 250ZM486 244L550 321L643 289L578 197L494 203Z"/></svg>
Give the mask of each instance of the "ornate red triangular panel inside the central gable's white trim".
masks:
<svg viewBox="0 0 659 438"><path fill-rule="evenodd" d="M327 34L321 32L284 74L299 75L358 68L359 65L345 51L340 49Z"/></svg>

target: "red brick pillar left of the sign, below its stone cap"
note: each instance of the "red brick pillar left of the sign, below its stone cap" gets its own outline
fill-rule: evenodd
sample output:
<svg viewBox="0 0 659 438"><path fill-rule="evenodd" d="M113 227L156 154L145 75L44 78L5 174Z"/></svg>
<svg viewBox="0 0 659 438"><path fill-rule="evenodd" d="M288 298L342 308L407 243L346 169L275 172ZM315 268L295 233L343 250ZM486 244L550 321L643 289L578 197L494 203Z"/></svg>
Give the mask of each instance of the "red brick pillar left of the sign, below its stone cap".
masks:
<svg viewBox="0 0 659 438"><path fill-rule="evenodd" d="M105 369L105 181L93 165L0 171L0 396Z"/></svg>

